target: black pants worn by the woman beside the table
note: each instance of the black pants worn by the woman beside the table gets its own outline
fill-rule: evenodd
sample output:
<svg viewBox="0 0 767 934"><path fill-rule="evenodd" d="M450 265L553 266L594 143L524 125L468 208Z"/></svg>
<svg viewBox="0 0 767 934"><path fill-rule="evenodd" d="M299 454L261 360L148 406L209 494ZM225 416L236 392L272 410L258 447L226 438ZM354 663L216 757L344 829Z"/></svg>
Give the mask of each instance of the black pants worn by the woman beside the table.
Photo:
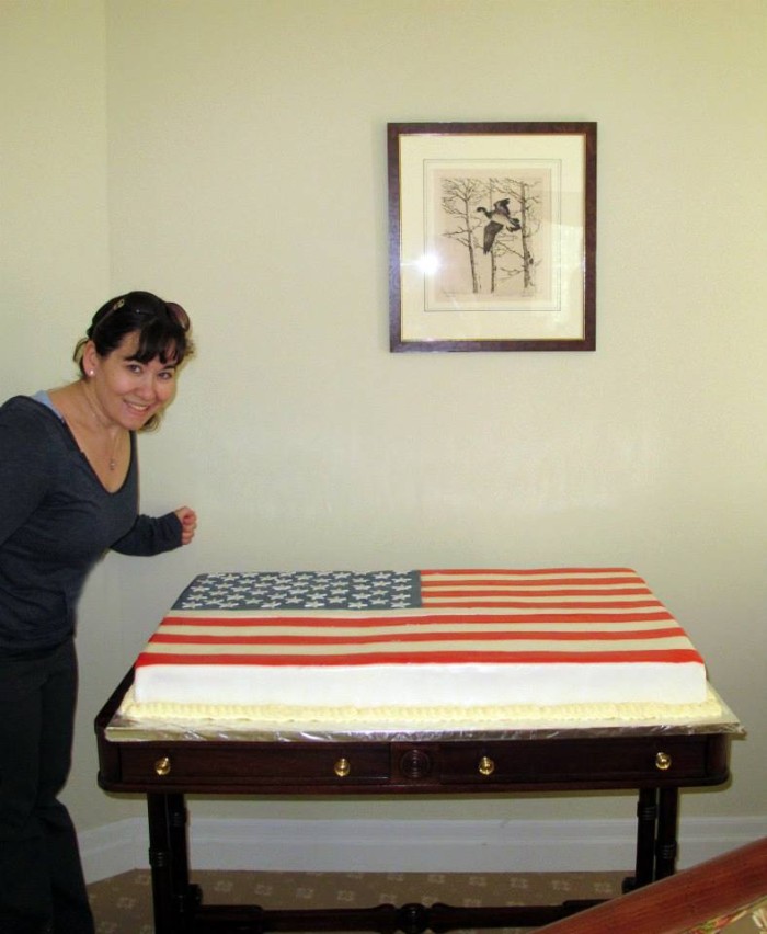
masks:
<svg viewBox="0 0 767 934"><path fill-rule="evenodd" d="M69 812L57 799L71 762L72 641L0 654L0 932L93 934Z"/></svg>

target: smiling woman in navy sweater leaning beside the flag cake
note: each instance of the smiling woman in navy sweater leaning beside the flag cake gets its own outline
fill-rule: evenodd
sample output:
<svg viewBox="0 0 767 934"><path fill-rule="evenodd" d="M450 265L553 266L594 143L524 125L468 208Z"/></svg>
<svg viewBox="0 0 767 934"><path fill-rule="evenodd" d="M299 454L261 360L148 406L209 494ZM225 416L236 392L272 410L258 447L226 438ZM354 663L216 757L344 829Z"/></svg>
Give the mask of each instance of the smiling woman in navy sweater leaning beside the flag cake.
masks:
<svg viewBox="0 0 767 934"><path fill-rule="evenodd" d="M131 292L96 311L80 378L0 408L0 931L92 934L69 815L75 610L107 548L187 545L182 506L137 514L136 432L154 428L193 348L180 305Z"/></svg>

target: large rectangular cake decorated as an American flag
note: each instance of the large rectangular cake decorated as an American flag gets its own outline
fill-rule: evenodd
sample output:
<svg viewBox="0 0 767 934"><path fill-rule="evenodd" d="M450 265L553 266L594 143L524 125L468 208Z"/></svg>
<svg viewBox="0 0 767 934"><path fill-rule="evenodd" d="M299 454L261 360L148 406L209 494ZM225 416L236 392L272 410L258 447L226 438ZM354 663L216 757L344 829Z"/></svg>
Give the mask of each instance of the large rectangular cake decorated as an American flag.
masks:
<svg viewBox="0 0 767 934"><path fill-rule="evenodd" d="M206 573L135 702L304 708L699 704L703 659L625 568Z"/></svg>

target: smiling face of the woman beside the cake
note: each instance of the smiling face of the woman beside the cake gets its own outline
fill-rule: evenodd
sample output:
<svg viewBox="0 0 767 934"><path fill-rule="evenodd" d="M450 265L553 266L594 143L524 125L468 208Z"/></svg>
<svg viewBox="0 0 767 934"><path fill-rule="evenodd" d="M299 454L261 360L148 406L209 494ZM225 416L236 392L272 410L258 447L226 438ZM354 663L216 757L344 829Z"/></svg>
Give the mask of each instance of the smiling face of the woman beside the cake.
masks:
<svg viewBox="0 0 767 934"><path fill-rule="evenodd" d="M175 396L176 366L159 357L139 363L138 332L126 334L106 356L99 356L89 344L83 355L85 373L103 414L128 431L138 431Z"/></svg>

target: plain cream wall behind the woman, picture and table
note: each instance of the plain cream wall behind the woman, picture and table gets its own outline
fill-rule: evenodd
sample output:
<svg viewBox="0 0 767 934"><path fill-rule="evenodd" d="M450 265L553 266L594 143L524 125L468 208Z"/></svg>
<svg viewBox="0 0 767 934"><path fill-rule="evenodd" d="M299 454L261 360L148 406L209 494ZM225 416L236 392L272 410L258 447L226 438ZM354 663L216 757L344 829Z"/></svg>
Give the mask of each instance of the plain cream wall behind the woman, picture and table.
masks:
<svg viewBox="0 0 767 934"><path fill-rule="evenodd" d="M640 570L749 730L732 787L684 813L767 816L764 2L3 0L0 16L3 396L65 378L123 289L185 304L199 344L142 441L144 508L188 502L197 539L110 556L83 600L79 827L141 812L95 790L90 724L193 574L456 565ZM558 119L599 124L597 351L390 354L386 123ZM243 807L499 813L203 812Z"/></svg>

